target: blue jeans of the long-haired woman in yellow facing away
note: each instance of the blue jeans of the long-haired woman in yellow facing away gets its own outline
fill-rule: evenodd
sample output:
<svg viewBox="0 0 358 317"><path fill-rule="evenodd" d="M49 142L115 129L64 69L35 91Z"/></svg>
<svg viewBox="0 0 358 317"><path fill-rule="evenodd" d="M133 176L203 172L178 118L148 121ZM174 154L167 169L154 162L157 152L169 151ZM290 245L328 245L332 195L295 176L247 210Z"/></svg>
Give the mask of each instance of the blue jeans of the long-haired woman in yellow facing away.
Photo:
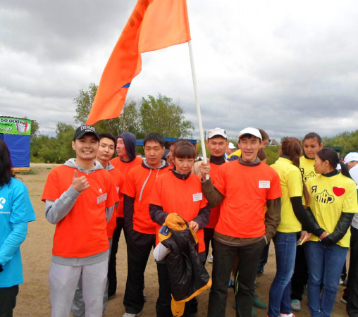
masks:
<svg viewBox="0 0 358 317"><path fill-rule="evenodd" d="M276 275L270 288L269 311L271 317L291 313L291 278L295 268L296 232L276 232L273 237L276 250Z"/></svg>

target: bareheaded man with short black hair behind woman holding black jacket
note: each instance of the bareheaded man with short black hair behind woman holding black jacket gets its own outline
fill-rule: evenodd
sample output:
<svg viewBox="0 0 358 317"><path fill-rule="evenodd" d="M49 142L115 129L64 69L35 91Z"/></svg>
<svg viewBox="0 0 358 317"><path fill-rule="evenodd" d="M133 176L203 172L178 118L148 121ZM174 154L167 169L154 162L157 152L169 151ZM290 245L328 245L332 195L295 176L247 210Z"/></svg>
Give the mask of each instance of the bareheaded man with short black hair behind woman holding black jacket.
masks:
<svg viewBox="0 0 358 317"><path fill-rule="evenodd" d="M127 173L121 189L124 194L124 231L128 260L123 300L127 313L125 316L137 316L143 309L144 271L156 242L156 224L149 215L149 198L158 175L169 170L166 161L161 159L165 149L163 137L158 133L149 133L144 137L143 143L145 159L140 166Z"/></svg>

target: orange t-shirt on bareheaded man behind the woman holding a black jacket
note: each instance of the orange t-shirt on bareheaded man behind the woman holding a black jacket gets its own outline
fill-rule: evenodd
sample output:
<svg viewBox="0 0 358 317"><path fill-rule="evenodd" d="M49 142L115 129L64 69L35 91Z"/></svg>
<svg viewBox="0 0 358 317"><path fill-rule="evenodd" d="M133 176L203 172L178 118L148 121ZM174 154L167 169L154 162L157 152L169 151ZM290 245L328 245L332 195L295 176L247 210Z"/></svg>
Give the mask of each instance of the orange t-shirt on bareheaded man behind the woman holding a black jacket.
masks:
<svg viewBox="0 0 358 317"><path fill-rule="evenodd" d="M135 231L149 235L156 234L156 223L149 214L149 199L156 178L167 173L168 170L169 166L151 170L140 165L128 172L121 192L135 198L133 213L133 229Z"/></svg>

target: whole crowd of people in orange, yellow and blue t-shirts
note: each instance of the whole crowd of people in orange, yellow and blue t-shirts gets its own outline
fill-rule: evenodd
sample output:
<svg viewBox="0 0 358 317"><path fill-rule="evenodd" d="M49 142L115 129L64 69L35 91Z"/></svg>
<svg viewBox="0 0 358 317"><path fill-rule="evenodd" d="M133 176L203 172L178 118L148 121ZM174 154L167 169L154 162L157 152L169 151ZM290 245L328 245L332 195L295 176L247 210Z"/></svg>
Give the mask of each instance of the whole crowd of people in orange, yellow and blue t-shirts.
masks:
<svg viewBox="0 0 358 317"><path fill-rule="evenodd" d="M267 316L293 317L305 287L311 316L331 316L349 249L342 301L349 316L358 316L358 153L340 161L311 132L302 144L283 139L269 166L268 143L264 130L245 128L235 147L225 130L214 128L206 161L185 139L168 143L149 133L142 159L132 133L113 137L80 126L72 142L75 158L50 171L42 194L45 216L56 225L51 316L102 316L116 295L122 230L128 259L123 317L144 309L152 249L156 316L197 316L196 296L206 289L207 315L226 316L230 284L236 316L255 316L255 280L264 272L271 240L276 275L269 305L261 305ZM0 172L0 316L7 317L23 282L20 244L35 213L2 139Z"/></svg>

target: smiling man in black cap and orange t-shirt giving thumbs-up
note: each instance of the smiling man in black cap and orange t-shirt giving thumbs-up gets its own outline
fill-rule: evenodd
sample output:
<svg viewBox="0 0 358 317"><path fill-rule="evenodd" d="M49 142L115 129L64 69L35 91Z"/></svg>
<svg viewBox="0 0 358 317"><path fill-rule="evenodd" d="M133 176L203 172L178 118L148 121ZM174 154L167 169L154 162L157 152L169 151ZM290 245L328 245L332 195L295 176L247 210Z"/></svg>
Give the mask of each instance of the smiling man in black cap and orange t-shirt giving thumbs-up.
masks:
<svg viewBox="0 0 358 317"><path fill-rule="evenodd" d="M49 271L51 316L70 314L82 274L85 313L101 316L109 257L107 223L118 201L109 173L94 160L99 136L90 125L73 138L76 158L50 171L42 194L45 216L56 224Z"/></svg>

